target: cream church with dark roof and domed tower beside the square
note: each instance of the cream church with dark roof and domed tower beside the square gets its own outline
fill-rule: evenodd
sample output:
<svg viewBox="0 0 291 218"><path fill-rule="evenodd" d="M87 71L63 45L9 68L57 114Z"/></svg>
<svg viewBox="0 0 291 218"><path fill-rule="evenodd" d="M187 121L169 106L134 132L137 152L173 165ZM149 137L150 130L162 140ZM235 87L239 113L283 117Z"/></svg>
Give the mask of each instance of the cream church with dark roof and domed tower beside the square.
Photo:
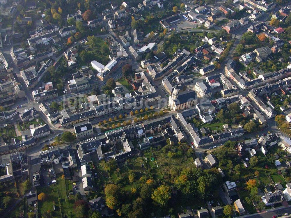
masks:
<svg viewBox="0 0 291 218"><path fill-rule="evenodd" d="M197 104L196 93L193 90L187 90L180 93L178 86L173 89L172 95L169 97L169 107L173 111L183 110L189 107L195 107Z"/></svg>

